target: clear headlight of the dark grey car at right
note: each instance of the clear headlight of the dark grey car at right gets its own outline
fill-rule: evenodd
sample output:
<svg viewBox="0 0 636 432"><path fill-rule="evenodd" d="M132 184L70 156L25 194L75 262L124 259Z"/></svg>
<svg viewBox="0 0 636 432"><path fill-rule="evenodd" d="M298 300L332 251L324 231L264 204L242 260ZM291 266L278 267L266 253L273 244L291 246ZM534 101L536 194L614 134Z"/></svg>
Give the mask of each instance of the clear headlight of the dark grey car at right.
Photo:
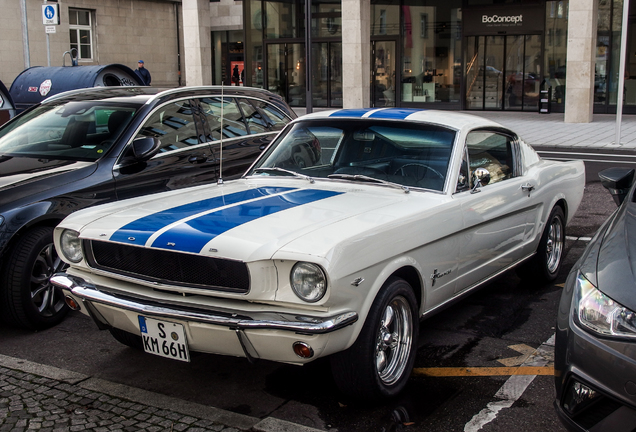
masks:
<svg viewBox="0 0 636 432"><path fill-rule="evenodd" d="M579 323L600 336L636 338L636 313L600 292L579 273L575 305Z"/></svg>

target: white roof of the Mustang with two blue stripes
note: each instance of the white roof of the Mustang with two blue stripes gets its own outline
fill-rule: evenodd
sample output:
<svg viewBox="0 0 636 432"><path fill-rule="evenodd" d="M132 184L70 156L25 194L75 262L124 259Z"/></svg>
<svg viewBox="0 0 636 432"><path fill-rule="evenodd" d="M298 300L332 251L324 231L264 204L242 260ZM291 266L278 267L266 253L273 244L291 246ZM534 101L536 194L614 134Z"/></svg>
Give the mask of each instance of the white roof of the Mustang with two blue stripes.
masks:
<svg viewBox="0 0 636 432"><path fill-rule="evenodd" d="M369 119L422 122L436 124L451 129L464 130L481 127L508 130L499 123L472 114L453 111L426 110L414 108L361 108L319 111L304 115L295 121L308 119Z"/></svg>

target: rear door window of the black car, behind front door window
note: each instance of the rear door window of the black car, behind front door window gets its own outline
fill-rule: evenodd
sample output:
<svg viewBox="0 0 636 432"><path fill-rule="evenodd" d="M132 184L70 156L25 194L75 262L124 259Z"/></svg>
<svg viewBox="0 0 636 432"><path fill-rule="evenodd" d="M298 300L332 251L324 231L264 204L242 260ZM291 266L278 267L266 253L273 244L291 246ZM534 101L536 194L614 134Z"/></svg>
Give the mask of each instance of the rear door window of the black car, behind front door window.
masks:
<svg viewBox="0 0 636 432"><path fill-rule="evenodd" d="M224 139L247 135L243 114L241 114L234 98L201 98L199 105L201 105L201 113L206 116L210 129L209 141L221 139L221 133Z"/></svg>

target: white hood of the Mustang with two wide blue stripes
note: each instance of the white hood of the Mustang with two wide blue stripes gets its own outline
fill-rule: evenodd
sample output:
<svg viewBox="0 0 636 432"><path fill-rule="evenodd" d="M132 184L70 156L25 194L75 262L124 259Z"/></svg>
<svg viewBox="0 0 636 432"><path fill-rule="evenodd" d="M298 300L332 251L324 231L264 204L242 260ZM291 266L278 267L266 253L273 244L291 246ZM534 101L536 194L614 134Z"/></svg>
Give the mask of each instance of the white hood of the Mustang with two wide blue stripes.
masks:
<svg viewBox="0 0 636 432"><path fill-rule="evenodd" d="M373 236L404 233L405 221L416 225L423 214L443 212L440 204L449 200L438 193L407 194L377 185L243 179L82 210L60 227L80 231L85 239L246 262L303 256L330 260L338 245L357 239L356 250L364 252ZM431 236L444 235L434 225ZM377 248L377 237L374 244ZM399 247L408 250L403 243Z"/></svg>

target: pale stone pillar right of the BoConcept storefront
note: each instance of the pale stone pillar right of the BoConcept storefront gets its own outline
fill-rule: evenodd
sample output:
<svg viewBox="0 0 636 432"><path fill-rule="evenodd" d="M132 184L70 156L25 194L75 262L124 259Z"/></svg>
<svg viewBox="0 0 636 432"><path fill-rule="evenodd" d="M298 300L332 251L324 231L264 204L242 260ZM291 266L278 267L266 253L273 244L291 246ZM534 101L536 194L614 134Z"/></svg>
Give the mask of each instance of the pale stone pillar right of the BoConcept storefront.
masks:
<svg viewBox="0 0 636 432"><path fill-rule="evenodd" d="M597 17L598 0L570 1L565 86L566 123L592 121Z"/></svg>

